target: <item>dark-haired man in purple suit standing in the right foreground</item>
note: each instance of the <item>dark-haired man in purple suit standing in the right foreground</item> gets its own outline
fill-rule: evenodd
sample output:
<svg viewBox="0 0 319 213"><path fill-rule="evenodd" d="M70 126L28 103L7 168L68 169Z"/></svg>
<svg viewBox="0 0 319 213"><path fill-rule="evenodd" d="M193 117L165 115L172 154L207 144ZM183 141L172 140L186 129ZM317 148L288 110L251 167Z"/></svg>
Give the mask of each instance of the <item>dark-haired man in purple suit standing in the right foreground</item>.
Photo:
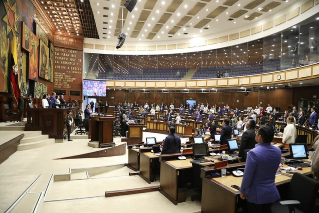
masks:
<svg viewBox="0 0 319 213"><path fill-rule="evenodd" d="M280 199L275 175L281 160L281 151L271 145L274 131L261 126L256 134L256 147L247 154L240 197L247 199L249 213L271 212L271 203Z"/></svg>

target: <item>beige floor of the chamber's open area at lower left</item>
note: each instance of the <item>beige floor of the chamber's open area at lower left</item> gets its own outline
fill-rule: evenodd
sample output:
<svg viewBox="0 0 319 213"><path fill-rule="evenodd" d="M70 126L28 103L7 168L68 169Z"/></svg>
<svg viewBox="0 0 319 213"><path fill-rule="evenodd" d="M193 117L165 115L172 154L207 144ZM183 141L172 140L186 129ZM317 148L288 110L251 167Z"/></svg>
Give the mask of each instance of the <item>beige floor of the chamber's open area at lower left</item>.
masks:
<svg viewBox="0 0 319 213"><path fill-rule="evenodd" d="M0 126L6 125L0 123ZM2 134L10 132L0 131ZM146 137L157 137L160 141L166 135L144 132L144 141ZM88 147L88 141L88 139L64 141L12 154L0 164L0 212L4 212L40 174L41 178L29 193L44 192L51 174L68 173L70 168L103 167L128 162L127 152L123 156L54 160L63 156L99 150ZM120 142L121 138L116 137L114 141ZM183 141L185 139L182 139ZM128 176L129 171L124 167L97 174L90 177L92 179L53 182L49 187L46 201L98 196L104 195L107 190L151 186L138 176ZM159 182L152 183L152 185L158 184ZM198 202L187 201L175 206L159 192L151 192L110 198L45 202L41 204L38 212L195 212L199 210Z"/></svg>

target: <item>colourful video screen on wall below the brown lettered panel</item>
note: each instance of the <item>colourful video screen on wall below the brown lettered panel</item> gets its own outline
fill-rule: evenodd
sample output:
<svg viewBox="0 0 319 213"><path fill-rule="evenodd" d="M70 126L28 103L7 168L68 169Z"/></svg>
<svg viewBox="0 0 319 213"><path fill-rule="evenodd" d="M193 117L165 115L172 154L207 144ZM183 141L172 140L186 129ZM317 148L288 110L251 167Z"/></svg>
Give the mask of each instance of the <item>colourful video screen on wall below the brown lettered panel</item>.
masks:
<svg viewBox="0 0 319 213"><path fill-rule="evenodd" d="M83 80L83 95L106 96L106 81Z"/></svg>

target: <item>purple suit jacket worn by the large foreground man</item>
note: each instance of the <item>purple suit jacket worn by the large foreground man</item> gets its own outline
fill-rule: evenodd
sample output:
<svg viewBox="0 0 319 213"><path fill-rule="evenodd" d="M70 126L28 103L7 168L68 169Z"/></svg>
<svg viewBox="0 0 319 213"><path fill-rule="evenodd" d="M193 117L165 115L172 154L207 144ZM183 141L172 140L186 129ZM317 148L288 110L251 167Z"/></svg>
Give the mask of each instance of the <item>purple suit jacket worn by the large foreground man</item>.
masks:
<svg viewBox="0 0 319 213"><path fill-rule="evenodd" d="M248 152L240 192L247 194L248 202L272 203L280 199L275 175L281 160L281 151L270 143L260 143Z"/></svg>

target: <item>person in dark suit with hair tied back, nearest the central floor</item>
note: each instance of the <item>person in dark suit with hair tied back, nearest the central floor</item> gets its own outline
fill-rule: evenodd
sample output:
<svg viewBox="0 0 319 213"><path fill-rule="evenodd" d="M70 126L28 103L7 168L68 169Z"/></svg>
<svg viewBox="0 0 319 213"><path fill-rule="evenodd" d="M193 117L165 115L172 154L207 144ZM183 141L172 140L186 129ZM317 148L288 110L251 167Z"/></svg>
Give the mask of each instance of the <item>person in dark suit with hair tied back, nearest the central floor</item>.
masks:
<svg viewBox="0 0 319 213"><path fill-rule="evenodd" d="M161 154L180 153L181 138L175 135L175 127L169 127L169 135L165 138Z"/></svg>

